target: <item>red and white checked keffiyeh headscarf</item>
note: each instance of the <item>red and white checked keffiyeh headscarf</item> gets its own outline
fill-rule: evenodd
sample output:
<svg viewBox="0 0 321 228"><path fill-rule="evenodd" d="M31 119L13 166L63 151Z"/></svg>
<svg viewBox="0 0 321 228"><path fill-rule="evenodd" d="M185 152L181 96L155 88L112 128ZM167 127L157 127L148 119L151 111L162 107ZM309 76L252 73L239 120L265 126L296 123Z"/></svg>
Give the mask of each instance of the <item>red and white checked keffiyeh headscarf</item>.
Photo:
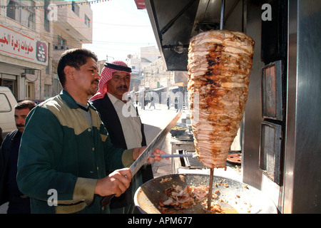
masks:
<svg viewBox="0 0 321 228"><path fill-rule="evenodd" d="M127 64L124 63L123 61L113 61L112 63L115 64L115 65L128 67ZM98 91L97 91L97 93L95 95L93 95L92 98L89 99L89 101L101 99L106 95L106 93L107 93L107 82L109 80L111 80L111 78L113 78L113 72L126 72L126 73L128 73L128 71L115 70L115 69L112 69L112 68L108 68L105 65L103 67L103 70L101 71L101 81L99 81L99 84L98 84ZM131 73L129 73L129 75L131 75Z"/></svg>

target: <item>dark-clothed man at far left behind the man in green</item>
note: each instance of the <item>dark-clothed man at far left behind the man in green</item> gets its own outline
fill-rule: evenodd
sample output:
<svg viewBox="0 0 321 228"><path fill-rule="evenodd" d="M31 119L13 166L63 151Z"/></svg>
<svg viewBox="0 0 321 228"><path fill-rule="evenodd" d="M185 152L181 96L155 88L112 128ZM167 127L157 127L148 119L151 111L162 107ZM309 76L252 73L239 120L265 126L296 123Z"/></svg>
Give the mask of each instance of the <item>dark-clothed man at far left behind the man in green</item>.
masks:
<svg viewBox="0 0 321 228"><path fill-rule="evenodd" d="M14 107L17 129L6 135L0 147L0 205L9 202L7 214L30 214L30 199L20 192L16 172L26 116L34 107L36 103L31 100L23 100Z"/></svg>

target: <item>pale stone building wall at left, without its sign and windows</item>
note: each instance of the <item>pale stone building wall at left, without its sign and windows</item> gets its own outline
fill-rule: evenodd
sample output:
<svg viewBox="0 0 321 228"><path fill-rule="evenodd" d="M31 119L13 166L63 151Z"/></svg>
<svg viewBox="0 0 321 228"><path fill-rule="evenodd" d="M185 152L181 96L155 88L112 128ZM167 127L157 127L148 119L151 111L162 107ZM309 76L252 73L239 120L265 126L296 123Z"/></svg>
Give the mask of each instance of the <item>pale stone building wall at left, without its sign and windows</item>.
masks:
<svg viewBox="0 0 321 228"><path fill-rule="evenodd" d="M4 37L6 29L11 29L12 34L22 34L34 38L36 41L43 41L47 48L47 64L39 64L28 58L21 58L8 54L1 48L0 41L0 81L14 81L14 95L17 100L26 99L26 85L34 87L32 90L32 98L36 100L44 100L45 98L56 95L60 92L58 77L56 76L56 63L65 50L54 50L54 45L58 43L57 35L68 40L67 45L70 48L81 48L82 43L91 43L92 40L92 21L93 12L90 5L79 6L79 16L76 16L70 6L58 8L58 19L67 19L65 23L57 21L49 21L49 31L44 29L45 13L43 7L44 1L15 1L19 6L30 6L34 12L34 21L30 24L28 18L30 12L27 9L14 9L16 19L7 16L8 9L0 8L0 40ZM77 2L77 1L76 1ZM7 6L9 0L0 0L1 6ZM68 4L68 1L50 1L49 3ZM39 9L36 9L39 7ZM19 12L19 14L18 14ZM11 15L13 11L11 10ZM87 26L84 22L85 14L91 21L91 26ZM21 16L21 17L20 17ZM1 27L2 26L2 27ZM26 74L26 69L33 69L34 74ZM52 86L55 88L53 89Z"/></svg>

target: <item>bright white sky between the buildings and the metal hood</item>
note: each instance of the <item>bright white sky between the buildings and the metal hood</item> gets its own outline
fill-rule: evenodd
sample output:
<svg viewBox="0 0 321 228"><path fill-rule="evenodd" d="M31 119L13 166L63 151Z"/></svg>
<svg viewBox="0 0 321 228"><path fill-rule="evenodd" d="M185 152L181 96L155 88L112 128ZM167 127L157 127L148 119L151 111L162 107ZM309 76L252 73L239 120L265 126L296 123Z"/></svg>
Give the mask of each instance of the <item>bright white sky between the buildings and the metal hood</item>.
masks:
<svg viewBox="0 0 321 228"><path fill-rule="evenodd" d="M139 10L134 0L109 0L91 4L93 43L83 48L96 53L98 60L125 61L138 54L140 47L156 46L146 9Z"/></svg>

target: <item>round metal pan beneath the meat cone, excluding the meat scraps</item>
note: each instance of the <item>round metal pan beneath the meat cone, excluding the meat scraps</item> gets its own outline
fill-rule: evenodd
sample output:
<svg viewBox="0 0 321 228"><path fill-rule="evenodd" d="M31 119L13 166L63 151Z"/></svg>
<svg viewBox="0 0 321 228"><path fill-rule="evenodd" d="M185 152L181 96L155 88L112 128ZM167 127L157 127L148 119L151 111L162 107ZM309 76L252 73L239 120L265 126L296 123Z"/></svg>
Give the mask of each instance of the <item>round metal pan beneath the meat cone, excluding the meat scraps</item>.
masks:
<svg viewBox="0 0 321 228"><path fill-rule="evenodd" d="M163 211L158 207L159 202L161 199L164 201L168 199L164 192L168 187L173 187L173 185L180 185L183 188L185 186L208 186L209 179L209 175L198 174L174 174L157 177L138 188L134 196L134 202L136 207L138 207L139 211L143 214L161 214ZM255 187L246 185L242 182L214 176L213 192L215 192L215 190L219 190L219 193L217 194L218 199L213 200L217 200L221 207L227 208L227 211L228 207L232 207L240 214L277 213L275 204L270 197ZM208 213L201 204L196 204L192 209L173 209L172 211L173 213L185 214Z"/></svg>

